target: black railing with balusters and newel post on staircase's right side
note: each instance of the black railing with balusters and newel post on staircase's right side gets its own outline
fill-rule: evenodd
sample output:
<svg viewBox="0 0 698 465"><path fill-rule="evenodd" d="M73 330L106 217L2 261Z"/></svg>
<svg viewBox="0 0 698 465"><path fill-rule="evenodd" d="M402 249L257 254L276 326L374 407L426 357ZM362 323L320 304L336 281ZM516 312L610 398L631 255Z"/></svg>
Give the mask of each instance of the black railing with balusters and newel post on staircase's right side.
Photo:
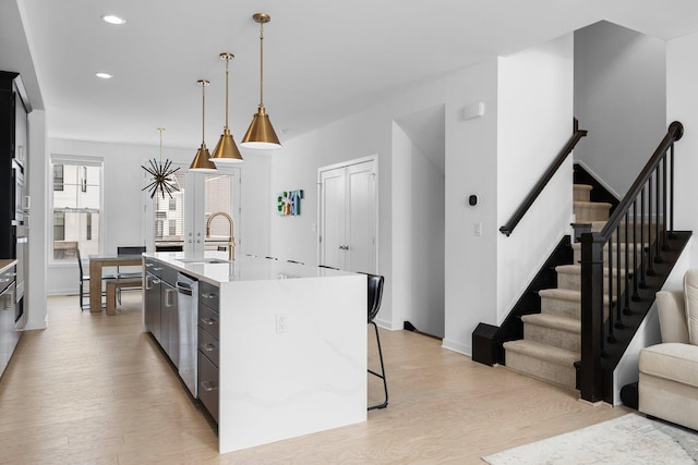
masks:
<svg viewBox="0 0 698 465"><path fill-rule="evenodd" d="M581 234L579 389L586 401L613 402L613 369L687 242L673 231L674 143L683 134L682 123L670 124L603 229Z"/></svg>

